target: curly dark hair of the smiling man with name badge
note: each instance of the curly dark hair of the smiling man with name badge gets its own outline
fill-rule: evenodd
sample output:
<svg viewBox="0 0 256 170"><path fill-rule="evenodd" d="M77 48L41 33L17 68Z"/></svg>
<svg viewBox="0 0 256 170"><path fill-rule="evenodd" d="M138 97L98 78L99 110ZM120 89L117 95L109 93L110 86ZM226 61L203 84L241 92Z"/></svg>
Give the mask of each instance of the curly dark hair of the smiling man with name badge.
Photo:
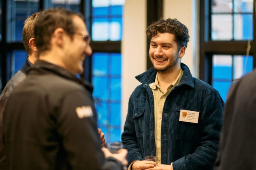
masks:
<svg viewBox="0 0 256 170"><path fill-rule="evenodd" d="M148 37L152 38L158 33L174 34L176 38L175 41L178 46L178 51L183 46L187 48L187 43L189 41L188 29L176 18L160 19L147 27L146 34Z"/></svg>

